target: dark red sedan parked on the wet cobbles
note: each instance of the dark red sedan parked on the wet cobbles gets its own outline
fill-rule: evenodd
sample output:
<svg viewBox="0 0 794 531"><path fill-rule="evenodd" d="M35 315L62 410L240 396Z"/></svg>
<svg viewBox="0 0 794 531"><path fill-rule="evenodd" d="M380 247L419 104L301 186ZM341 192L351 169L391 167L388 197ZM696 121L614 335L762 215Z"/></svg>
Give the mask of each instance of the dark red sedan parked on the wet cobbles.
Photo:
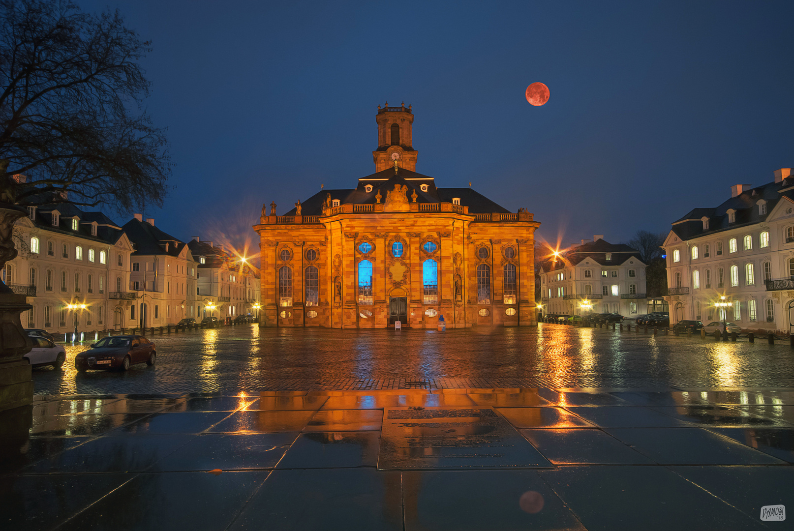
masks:
<svg viewBox="0 0 794 531"><path fill-rule="evenodd" d="M143 336L103 337L85 352L75 356L78 372L88 369L119 369L126 371L130 365L154 365L156 347Z"/></svg>

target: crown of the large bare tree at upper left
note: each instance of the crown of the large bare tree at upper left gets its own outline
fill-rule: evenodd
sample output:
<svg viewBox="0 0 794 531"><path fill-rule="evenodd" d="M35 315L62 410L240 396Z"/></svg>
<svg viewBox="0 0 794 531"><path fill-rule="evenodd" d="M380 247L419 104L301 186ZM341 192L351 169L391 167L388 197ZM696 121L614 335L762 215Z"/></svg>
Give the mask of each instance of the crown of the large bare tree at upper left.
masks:
<svg viewBox="0 0 794 531"><path fill-rule="evenodd" d="M118 11L66 1L0 0L0 17L0 201L162 205L172 164L141 108L149 43Z"/></svg>

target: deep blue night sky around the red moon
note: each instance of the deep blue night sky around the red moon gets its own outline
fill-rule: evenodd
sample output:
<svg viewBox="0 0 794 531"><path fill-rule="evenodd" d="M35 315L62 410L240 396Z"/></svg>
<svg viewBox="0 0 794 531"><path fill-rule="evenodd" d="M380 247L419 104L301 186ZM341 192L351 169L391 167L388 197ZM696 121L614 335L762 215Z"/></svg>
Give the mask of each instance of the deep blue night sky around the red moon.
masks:
<svg viewBox="0 0 794 531"><path fill-rule="evenodd" d="M79 5L152 40L148 110L176 167L145 215L183 239L252 239L263 202L354 187L386 101L413 105L418 172L568 244L666 232L794 165L794 2Z"/></svg>

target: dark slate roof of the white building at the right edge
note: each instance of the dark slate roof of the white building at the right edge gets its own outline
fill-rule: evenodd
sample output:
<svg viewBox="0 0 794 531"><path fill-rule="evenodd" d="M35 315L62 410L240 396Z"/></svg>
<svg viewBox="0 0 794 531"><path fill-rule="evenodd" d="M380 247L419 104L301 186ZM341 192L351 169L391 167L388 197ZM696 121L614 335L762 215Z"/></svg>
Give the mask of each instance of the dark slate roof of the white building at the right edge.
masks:
<svg viewBox="0 0 794 531"><path fill-rule="evenodd" d="M673 221L673 233L681 240L691 240L707 234L736 229L746 225L754 225L765 221L783 197L794 200L794 177L783 179L780 183L767 183L760 187L742 190L734 198L730 198L716 208L696 208L680 219ZM766 202L766 214L758 213L757 202ZM736 221L728 223L727 211L736 210ZM703 230L702 218L708 218L708 229Z"/></svg>

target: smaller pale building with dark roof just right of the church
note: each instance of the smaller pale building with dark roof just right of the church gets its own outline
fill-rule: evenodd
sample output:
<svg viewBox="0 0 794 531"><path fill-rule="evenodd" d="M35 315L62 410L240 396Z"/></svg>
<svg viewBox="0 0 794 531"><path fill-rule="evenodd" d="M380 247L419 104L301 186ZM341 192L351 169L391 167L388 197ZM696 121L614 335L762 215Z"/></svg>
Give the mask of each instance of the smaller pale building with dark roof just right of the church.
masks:
<svg viewBox="0 0 794 531"><path fill-rule="evenodd" d="M585 243L549 256L540 267L541 300L547 314L613 313L625 317L661 311L646 298L646 264L639 252L596 234ZM592 310L583 309L584 300Z"/></svg>

